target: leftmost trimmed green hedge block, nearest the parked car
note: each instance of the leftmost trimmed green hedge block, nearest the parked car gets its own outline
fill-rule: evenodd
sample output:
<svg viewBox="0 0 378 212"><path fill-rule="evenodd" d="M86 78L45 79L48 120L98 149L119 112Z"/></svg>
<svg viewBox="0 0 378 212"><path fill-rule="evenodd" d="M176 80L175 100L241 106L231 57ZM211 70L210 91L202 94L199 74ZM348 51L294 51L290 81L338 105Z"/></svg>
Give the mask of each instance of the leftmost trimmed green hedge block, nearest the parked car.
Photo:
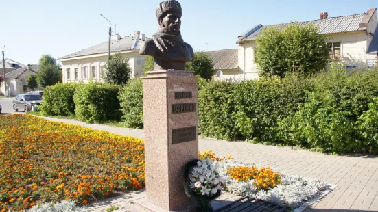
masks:
<svg viewBox="0 0 378 212"><path fill-rule="evenodd" d="M58 83L43 90L40 110L45 116L75 116L73 93L77 83Z"/></svg>

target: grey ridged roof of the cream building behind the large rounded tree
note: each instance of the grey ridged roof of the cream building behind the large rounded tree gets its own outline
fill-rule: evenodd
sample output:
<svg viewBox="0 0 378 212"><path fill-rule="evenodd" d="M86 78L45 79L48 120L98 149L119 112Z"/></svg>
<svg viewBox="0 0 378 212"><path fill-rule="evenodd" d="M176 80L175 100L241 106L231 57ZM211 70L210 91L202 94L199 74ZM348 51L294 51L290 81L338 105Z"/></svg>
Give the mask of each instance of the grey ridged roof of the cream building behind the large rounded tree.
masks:
<svg viewBox="0 0 378 212"><path fill-rule="evenodd" d="M300 25L314 24L319 27L320 34L334 34L347 31L359 31L359 23L362 21L362 18L364 18L364 15L365 14L353 14L349 16L325 18L314 21L303 21L298 23ZM267 29L268 27L276 27L276 29L282 29L283 27L286 27L289 24L290 23L281 23L277 25L266 26L257 25L256 27L252 27L252 29L248 30L246 33L239 36L239 40L256 40L257 36L261 34L263 29Z"/></svg>

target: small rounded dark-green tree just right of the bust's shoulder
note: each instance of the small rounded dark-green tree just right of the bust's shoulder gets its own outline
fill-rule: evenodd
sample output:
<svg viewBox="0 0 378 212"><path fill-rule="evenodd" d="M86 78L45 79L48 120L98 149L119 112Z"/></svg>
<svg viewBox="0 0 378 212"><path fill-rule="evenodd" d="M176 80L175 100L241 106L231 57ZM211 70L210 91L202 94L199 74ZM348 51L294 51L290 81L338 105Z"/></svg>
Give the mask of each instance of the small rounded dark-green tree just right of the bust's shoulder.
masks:
<svg viewBox="0 0 378 212"><path fill-rule="evenodd" d="M195 75L204 79L211 79L214 73L214 63L207 53L198 51L194 53L194 57L191 61L185 64L185 69L193 70Z"/></svg>

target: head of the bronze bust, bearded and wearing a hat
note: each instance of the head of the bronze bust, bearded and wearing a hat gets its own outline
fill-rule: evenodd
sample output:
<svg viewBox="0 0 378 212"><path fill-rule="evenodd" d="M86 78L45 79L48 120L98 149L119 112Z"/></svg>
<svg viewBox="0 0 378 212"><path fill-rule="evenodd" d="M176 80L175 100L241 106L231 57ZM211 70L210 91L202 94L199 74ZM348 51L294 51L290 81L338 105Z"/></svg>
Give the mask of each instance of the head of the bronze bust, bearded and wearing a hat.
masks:
<svg viewBox="0 0 378 212"><path fill-rule="evenodd" d="M167 34L180 34L182 9L175 0L163 1L156 9L159 31Z"/></svg>

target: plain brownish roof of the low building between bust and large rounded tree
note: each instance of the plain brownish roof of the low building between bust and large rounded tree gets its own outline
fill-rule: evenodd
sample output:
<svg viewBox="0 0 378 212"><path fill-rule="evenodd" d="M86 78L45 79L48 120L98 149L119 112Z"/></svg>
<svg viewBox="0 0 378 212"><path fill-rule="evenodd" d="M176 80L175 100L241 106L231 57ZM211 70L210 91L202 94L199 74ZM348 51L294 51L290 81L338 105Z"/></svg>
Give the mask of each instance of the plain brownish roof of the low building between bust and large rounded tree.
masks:
<svg viewBox="0 0 378 212"><path fill-rule="evenodd" d="M222 49L207 51L214 63L215 70L228 70L237 68L237 49Z"/></svg>

